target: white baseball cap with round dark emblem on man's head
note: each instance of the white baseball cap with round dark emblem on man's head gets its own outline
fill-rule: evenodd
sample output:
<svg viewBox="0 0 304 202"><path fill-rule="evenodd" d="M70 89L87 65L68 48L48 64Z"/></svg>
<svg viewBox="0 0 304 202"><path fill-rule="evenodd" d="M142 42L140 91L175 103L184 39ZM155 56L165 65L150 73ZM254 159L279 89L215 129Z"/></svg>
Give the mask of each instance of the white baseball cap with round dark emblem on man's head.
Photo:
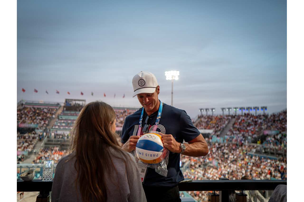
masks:
<svg viewBox="0 0 304 202"><path fill-rule="evenodd" d="M158 86L156 77L150 72L139 72L132 79L133 97L140 93L154 93Z"/></svg>

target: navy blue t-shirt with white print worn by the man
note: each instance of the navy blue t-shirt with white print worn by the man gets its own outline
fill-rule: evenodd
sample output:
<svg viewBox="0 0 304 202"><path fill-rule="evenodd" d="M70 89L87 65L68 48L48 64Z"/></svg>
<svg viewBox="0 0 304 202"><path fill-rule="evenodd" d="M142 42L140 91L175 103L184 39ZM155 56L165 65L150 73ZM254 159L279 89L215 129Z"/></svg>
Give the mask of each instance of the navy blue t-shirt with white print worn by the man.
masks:
<svg viewBox="0 0 304 202"><path fill-rule="evenodd" d="M137 135L139 118L143 108L140 108L135 113L126 117L125 123L123 124L121 142L126 143L130 136ZM149 124L151 125L149 130L152 131L156 128L155 121L158 110L149 116ZM143 121L145 121L147 113L143 114ZM143 130L142 123L142 130ZM161 113L161 120L158 124L157 131L163 134L171 134L177 142L182 143L189 142L199 136L200 132L192 124L191 118L187 115L185 110L177 109L173 106L163 104L163 111ZM148 133L148 132L146 132ZM145 133L143 133L145 134ZM146 186L162 186L162 187L173 187L180 181L184 180L183 173L179 168L179 153L169 153L168 162L168 175L167 177L161 176L156 173L154 169L148 168L147 175L144 181Z"/></svg>

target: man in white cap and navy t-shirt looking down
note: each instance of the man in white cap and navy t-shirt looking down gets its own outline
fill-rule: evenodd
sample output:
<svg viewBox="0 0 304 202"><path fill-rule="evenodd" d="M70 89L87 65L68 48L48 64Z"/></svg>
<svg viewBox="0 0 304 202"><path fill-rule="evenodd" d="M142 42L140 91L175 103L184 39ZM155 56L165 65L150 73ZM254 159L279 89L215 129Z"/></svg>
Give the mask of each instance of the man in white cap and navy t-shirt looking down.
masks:
<svg viewBox="0 0 304 202"><path fill-rule="evenodd" d="M192 124L184 110L162 103L158 99L159 85L150 72L140 72L133 77L133 97L137 96L142 108L126 117L121 143L128 152L135 150L140 135L158 131L164 147L170 150L164 177L148 168L143 183L147 201L181 201L178 183L184 180L179 168L180 154L192 157L206 156L209 152L202 134ZM188 144L183 144L183 141Z"/></svg>

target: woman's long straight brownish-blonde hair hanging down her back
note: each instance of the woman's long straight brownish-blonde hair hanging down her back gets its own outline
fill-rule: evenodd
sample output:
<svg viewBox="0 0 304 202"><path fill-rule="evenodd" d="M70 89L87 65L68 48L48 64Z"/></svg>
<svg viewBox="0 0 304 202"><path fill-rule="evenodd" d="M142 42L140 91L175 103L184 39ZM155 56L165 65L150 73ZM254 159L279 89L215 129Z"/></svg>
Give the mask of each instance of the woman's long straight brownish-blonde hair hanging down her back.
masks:
<svg viewBox="0 0 304 202"><path fill-rule="evenodd" d="M126 167L130 164L130 156L120 148L118 135L111 130L110 122L114 124L115 117L110 105L95 101L82 108L73 126L71 152L76 156L75 183L85 202L107 200L105 175L112 173L112 169L117 173L113 156L122 159ZM110 148L117 153L112 153Z"/></svg>

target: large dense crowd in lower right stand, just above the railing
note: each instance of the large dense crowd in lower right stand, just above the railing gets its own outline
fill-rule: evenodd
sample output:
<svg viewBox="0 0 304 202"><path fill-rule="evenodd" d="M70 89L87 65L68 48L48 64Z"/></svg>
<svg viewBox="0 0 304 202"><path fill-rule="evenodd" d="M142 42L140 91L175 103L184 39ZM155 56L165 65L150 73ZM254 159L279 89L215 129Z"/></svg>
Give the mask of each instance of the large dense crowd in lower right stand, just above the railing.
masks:
<svg viewBox="0 0 304 202"><path fill-rule="evenodd" d="M181 162L188 169L184 177L193 180L219 180L227 177L240 180L242 176L250 176L253 180L287 179L287 159L272 160L250 156L248 153L257 146L238 145L234 143L211 143L208 138L209 154L206 157L181 156ZM189 191L198 201L207 201L208 192Z"/></svg>

